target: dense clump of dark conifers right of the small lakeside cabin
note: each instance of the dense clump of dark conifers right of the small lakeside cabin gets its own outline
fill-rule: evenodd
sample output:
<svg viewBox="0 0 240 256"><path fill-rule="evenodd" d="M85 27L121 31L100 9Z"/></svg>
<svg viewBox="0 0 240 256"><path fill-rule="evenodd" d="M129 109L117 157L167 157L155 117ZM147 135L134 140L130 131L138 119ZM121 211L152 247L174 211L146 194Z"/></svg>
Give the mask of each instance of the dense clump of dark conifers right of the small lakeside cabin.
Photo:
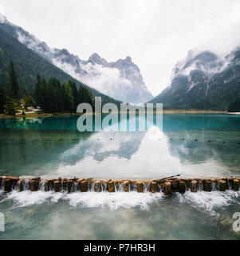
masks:
<svg viewBox="0 0 240 256"><path fill-rule="evenodd" d="M37 106L46 113L70 112L76 113L77 106L89 103L93 106L93 98L89 89L81 86L77 90L74 82L61 83L57 78L50 78L48 82L37 76L35 98Z"/></svg>

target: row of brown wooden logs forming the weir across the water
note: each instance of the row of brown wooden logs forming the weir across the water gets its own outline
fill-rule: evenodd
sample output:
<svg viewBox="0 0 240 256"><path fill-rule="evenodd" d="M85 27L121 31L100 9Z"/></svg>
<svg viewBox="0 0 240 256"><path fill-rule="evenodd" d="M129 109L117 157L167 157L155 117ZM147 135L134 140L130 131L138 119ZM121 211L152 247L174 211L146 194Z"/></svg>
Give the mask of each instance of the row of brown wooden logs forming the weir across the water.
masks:
<svg viewBox="0 0 240 256"><path fill-rule="evenodd" d="M116 190L119 190L120 187L124 192L129 192L136 188L139 193L144 192L145 184L148 184L148 189L151 193L156 193L158 191L163 191L165 194L171 194L172 192L179 191L184 193L186 190L191 190L191 192L197 192L198 187L202 186L204 191L211 191L213 187L216 187L220 191L225 191L232 189L234 191L239 190L240 178L195 178L195 179L184 179L184 178L170 178L161 180L94 180L89 179L78 179L78 178L61 178L58 179L49 179L41 180L41 178L31 178L28 182L31 191L37 191L39 182L43 190L49 191L54 190L56 192L61 191L62 189L68 191L68 193L76 192L81 190L82 192L89 191L89 184L92 184L92 190L100 192L102 190L108 190L108 192L113 193ZM2 188L6 192L10 192L14 188L18 187L20 191L24 190L25 180L23 178L19 179L18 177L10 176L0 176L0 183ZM218 186L214 186L217 184ZM170 188L169 188L170 186Z"/></svg>

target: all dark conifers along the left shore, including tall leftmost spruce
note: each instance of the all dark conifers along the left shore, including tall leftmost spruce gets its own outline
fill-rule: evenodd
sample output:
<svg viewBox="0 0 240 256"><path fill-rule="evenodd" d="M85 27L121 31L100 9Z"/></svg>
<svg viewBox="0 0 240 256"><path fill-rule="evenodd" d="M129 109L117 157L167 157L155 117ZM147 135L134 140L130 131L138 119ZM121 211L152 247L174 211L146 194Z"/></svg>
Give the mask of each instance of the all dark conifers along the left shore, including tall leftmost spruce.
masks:
<svg viewBox="0 0 240 256"><path fill-rule="evenodd" d="M26 90L19 90L18 77L14 64L10 62L9 79L5 85L0 84L0 113L14 115L16 110L30 106L40 106L45 113L76 113L81 102L93 106L93 97L89 89L75 82L60 82L57 78L45 81L39 75L33 97Z"/></svg>

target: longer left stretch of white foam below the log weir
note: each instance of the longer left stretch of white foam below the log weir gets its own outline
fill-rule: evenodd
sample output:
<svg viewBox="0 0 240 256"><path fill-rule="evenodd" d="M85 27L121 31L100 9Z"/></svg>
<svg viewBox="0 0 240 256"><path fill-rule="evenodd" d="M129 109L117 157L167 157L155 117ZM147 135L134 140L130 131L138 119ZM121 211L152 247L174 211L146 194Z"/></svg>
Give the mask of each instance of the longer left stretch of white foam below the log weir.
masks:
<svg viewBox="0 0 240 256"><path fill-rule="evenodd" d="M13 202L14 207L32 206L42 203L57 203L60 200L68 202L70 206L93 208L108 206L110 210L116 210L120 207L132 208L140 207L140 209L148 210L153 202L159 202L163 198L162 193L151 194L137 193L137 192L86 192L86 193L55 193L53 191L44 192L37 191L31 192L30 190L18 192L13 191L6 194L1 202ZM0 202L0 203L1 203Z"/></svg>

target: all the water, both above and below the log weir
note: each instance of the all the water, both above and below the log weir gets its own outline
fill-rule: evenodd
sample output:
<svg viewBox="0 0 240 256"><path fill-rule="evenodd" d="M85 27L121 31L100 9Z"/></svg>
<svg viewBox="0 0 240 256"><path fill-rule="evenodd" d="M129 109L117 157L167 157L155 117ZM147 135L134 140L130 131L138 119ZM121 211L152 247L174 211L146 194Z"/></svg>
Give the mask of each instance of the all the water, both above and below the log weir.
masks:
<svg viewBox="0 0 240 256"><path fill-rule="evenodd" d="M163 130L153 126L146 133L81 134L76 122L76 116L0 119L0 173L43 178L240 175L238 116L166 114ZM0 212L6 216L0 239L238 239L232 215L240 211L239 202L239 193L232 191L169 198L135 192L0 193Z"/></svg>

